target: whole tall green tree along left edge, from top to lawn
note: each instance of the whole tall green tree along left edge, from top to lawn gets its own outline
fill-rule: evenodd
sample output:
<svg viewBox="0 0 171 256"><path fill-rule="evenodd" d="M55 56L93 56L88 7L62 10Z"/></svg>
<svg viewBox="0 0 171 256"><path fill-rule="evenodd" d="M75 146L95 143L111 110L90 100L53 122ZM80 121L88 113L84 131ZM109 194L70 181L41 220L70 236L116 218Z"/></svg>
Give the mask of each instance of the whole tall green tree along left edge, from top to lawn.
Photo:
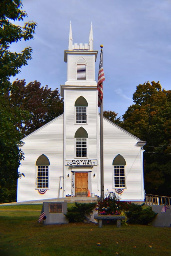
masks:
<svg viewBox="0 0 171 256"><path fill-rule="evenodd" d="M36 23L28 22L23 27L14 21L23 21L27 16L22 10L21 0L0 1L0 202L15 200L17 168L23 154L17 145L22 134L17 124L28 118L29 112L11 106L10 77L31 59L32 48L26 47L21 53L11 52L10 45L33 38Z"/></svg>

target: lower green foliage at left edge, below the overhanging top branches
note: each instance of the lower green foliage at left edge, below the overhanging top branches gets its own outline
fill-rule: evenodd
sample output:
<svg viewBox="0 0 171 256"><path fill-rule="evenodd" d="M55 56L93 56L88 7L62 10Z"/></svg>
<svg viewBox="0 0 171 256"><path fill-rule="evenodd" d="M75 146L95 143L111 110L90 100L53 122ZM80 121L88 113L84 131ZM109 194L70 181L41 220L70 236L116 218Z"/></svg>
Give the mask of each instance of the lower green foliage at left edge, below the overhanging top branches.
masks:
<svg viewBox="0 0 171 256"><path fill-rule="evenodd" d="M0 96L0 203L16 198L17 168L23 153L17 146L21 134L15 124L27 115L27 111L11 107L8 95Z"/></svg>

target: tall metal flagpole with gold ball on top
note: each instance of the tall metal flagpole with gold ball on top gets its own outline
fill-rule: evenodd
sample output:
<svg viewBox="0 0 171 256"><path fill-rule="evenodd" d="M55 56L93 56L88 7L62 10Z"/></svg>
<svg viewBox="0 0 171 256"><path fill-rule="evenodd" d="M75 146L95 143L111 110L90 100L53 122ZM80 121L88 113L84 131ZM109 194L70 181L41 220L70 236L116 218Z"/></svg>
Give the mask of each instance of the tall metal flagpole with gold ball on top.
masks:
<svg viewBox="0 0 171 256"><path fill-rule="evenodd" d="M103 45L101 47L101 58L103 63ZM103 87L103 82L102 82ZM103 100L100 105L100 201L102 202L104 199L104 182L103 182Z"/></svg>

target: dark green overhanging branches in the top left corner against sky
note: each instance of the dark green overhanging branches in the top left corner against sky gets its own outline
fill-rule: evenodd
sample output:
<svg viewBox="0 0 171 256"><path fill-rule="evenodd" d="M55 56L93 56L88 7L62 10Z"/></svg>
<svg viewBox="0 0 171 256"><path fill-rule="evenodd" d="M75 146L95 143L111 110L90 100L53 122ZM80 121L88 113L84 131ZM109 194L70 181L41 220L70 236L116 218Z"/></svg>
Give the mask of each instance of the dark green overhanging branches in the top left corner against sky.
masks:
<svg viewBox="0 0 171 256"><path fill-rule="evenodd" d="M22 10L21 0L3 0L0 2L0 88L9 89L10 76L20 72L20 68L27 65L31 59L32 48L26 47L21 53L11 52L13 42L27 41L33 38L35 22L27 22L24 26L14 24L14 21L23 21L27 13Z"/></svg>

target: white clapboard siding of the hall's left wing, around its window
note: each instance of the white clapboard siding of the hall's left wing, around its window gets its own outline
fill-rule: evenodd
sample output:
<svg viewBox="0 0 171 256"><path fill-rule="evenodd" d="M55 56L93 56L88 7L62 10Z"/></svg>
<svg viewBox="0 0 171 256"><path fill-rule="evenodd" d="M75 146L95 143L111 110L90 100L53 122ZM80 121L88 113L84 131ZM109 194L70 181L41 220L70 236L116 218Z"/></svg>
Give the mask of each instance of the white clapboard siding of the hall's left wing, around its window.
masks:
<svg viewBox="0 0 171 256"><path fill-rule="evenodd" d="M39 200L59 197L60 176L63 176L63 115L42 126L22 141L25 159L19 171L25 177L18 179L17 201ZM45 154L50 161L49 190L40 194L35 189L36 161Z"/></svg>

